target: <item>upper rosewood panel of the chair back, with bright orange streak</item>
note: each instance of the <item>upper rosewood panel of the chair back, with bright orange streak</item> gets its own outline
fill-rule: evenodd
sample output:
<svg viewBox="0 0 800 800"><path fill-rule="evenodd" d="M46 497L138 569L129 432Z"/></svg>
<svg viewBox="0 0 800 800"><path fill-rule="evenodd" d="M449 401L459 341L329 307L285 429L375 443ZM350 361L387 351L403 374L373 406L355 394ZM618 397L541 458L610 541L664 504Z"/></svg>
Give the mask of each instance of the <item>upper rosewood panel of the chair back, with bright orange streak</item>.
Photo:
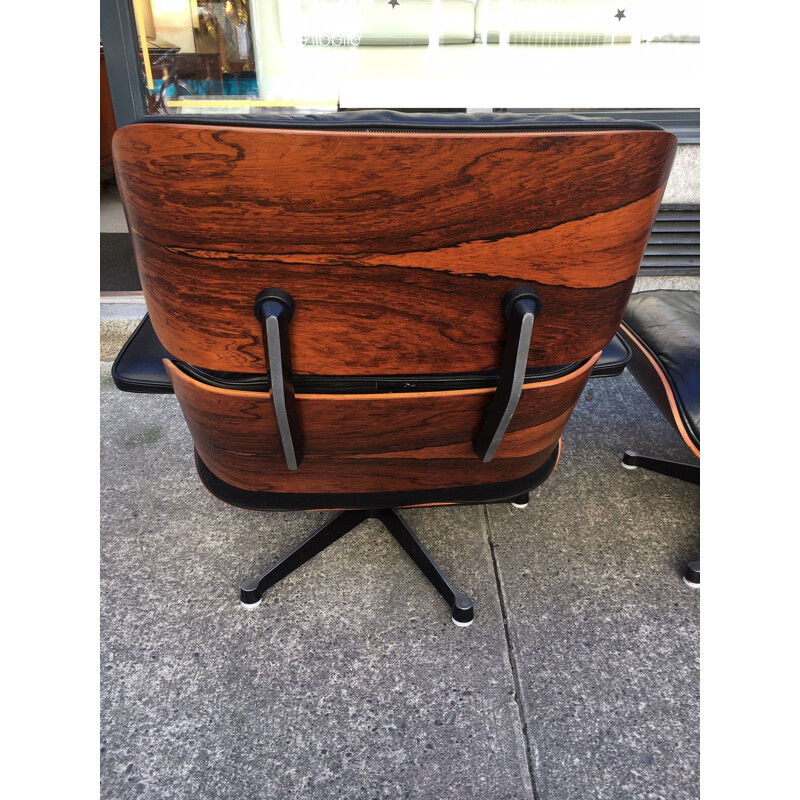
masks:
<svg viewBox="0 0 800 800"><path fill-rule="evenodd" d="M529 366L622 319L676 140L663 131L368 133L140 124L114 158L154 328L207 369L264 372L252 306L290 292L305 375L497 368L500 301L544 310Z"/></svg>

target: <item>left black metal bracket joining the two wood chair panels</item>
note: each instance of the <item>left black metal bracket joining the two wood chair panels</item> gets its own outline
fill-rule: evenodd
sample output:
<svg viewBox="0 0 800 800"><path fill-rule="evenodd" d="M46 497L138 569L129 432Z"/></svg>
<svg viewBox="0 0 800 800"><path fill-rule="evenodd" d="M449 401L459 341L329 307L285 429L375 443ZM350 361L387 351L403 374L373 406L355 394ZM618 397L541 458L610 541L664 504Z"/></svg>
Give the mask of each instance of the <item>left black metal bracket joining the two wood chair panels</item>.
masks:
<svg viewBox="0 0 800 800"><path fill-rule="evenodd" d="M272 407L278 421L286 466L295 470L303 460L303 438L294 397L292 354L289 347L289 323L294 314L294 300L283 289L264 289L255 304L256 319L261 323L264 355L269 365Z"/></svg>

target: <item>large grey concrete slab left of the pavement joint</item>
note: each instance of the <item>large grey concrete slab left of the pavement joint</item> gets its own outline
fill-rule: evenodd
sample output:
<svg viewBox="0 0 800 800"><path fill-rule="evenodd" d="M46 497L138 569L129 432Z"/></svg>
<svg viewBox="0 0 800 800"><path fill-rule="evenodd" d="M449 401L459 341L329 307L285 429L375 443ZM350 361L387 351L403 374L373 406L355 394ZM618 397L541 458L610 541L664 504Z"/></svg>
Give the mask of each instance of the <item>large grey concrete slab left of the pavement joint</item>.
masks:
<svg viewBox="0 0 800 800"><path fill-rule="evenodd" d="M101 385L103 798L532 797L482 506L403 512L470 628L374 521L247 611L328 515L221 503L174 397Z"/></svg>

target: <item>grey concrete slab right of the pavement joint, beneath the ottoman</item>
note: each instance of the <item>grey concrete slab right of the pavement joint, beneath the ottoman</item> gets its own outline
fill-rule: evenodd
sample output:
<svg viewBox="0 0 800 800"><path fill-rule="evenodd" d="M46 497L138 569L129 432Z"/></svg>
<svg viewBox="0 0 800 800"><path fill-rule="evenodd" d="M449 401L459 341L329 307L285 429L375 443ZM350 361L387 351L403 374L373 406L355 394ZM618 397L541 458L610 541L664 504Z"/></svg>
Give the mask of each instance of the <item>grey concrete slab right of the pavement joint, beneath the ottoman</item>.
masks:
<svg viewBox="0 0 800 800"><path fill-rule="evenodd" d="M633 378L590 381L526 510L487 506L539 800L699 796L699 487Z"/></svg>

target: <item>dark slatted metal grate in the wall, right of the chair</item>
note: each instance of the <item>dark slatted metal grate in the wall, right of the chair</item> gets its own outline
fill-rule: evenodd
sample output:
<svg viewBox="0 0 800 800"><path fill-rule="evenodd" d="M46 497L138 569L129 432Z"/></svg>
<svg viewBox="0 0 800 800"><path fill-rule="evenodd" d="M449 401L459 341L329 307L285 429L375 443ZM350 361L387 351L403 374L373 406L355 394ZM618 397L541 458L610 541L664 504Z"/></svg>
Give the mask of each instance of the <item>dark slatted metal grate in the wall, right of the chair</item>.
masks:
<svg viewBox="0 0 800 800"><path fill-rule="evenodd" d="M700 274L700 206L661 207L644 251L640 274Z"/></svg>

